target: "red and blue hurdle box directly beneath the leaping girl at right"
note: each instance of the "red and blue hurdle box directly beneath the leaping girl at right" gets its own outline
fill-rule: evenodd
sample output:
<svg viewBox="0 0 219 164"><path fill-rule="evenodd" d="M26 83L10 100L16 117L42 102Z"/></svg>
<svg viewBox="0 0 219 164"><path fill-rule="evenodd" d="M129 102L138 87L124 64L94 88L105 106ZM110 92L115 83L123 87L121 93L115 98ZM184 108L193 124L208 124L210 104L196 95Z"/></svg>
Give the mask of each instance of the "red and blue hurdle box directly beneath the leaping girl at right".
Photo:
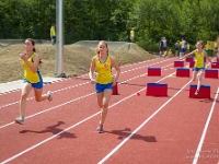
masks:
<svg viewBox="0 0 219 164"><path fill-rule="evenodd" d="M200 85L199 94L195 95L197 85L191 85L189 97L192 98L210 98L210 85Z"/></svg>

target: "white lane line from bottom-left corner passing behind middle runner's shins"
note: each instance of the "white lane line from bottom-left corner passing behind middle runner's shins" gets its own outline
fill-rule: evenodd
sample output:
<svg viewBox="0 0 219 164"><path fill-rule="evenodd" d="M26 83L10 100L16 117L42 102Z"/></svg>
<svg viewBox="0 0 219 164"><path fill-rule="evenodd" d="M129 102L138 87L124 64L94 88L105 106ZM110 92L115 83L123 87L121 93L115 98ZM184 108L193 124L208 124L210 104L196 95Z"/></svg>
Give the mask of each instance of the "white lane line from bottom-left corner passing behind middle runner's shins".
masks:
<svg viewBox="0 0 219 164"><path fill-rule="evenodd" d="M169 75L166 75L166 77L162 78L161 80L157 81L157 83L160 82L160 81L162 81L162 80L164 80L164 79L166 79L166 78L169 78ZM143 91L143 90L146 90L146 89L147 89L147 87L143 87L143 89L139 90L138 92L141 92L141 91ZM123 98L123 99L120 99L120 101L114 103L113 105L111 105L111 106L108 107L108 109L112 108L112 107L114 107L114 106L116 106L117 104L119 104L119 103L122 103L122 102L124 102L124 101L126 101L126 99L132 97L132 96L136 96L136 93L134 93L134 94L131 94L131 95L129 95L129 96L127 96L127 97L125 97L125 98ZM87 120L89 120L89 119L91 119L91 118L93 118L93 117L95 117L95 116L99 115L100 113L101 113L101 112L95 113L95 114L93 114L93 115L90 116L90 117L87 117L85 119L83 119L83 120L81 120L81 121L79 121L79 122L72 125L71 127L68 127L67 129L65 129L65 130L62 130L62 131L60 131L60 132L58 132L58 133L51 136L50 138L47 138L46 140L43 140L42 142L38 142L37 144L35 144L35 145L33 145L33 147L31 147L31 148L28 148L28 149L26 149L26 150L24 150L24 151L22 151L22 152L20 152L20 153L18 153L18 154L15 154L14 156L12 156L12 157L10 157L10 159L3 161L3 162L1 162L1 164L5 164L5 163L8 163L8 162L10 162L10 161L12 161L12 160L14 160L14 159L16 159L16 157L23 155L24 153L27 153L28 151L31 151L31 150L33 150L33 149L39 147L41 144L46 143L46 142L53 140L53 139L56 138L57 136L60 136L61 133L64 133L64 132L66 132L66 131L68 131L68 130L70 130L70 129L72 129L72 128L79 126L80 124L82 124L82 122L84 122L84 121L87 121Z"/></svg>

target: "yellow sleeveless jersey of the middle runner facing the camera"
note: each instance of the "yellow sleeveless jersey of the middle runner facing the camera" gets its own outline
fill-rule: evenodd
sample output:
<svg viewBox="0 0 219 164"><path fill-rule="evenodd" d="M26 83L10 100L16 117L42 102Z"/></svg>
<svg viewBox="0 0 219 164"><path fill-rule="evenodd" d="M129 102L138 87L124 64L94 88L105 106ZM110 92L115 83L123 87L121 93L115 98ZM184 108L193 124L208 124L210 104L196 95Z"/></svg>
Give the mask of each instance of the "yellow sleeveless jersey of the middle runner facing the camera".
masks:
<svg viewBox="0 0 219 164"><path fill-rule="evenodd" d="M104 62L101 62L99 56L95 58L96 79L95 82L100 84L107 84L113 82L111 58L107 56Z"/></svg>

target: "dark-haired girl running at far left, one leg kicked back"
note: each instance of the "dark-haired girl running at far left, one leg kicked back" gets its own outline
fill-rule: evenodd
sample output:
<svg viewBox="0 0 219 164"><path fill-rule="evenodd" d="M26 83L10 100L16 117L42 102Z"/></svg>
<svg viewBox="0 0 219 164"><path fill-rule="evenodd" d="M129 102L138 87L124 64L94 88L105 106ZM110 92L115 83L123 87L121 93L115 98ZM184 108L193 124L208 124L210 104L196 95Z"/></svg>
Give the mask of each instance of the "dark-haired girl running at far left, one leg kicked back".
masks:
<svg viewBox="0 0 219 164"><path fill-rule="evenodd" d="M35 42L27 38L24 43L25 52L20 54L22 59L22 65L24 68L24 84L22 86L21 99L20 99L20 117L15 119L16 124L24 124L24 113L26 107L26 98L32 89L34 89L36 102L42 102L53 99L51 92L48 91L47 94L43 93L43 79L38 70L41 63L39 56L35 52Z"/></svg>

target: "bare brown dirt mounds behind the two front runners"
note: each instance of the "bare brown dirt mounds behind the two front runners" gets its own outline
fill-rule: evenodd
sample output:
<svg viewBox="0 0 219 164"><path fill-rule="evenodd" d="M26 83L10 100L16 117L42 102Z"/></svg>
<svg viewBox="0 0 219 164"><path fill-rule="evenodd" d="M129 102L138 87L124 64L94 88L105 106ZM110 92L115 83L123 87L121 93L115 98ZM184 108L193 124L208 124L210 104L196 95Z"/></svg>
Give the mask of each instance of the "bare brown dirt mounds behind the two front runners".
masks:
<svg viewBox="0 0 219 164"><path fill-rule="evenodd" d="M56 46L37 44L36 51L43 63L39 66L43 77L55 77ZM23 79L23 68L19 54L24 51L23 44L7 45L0 48L0 82L10 82ZM130 44L128 50L120 48L110 50L119 66L135 63L155 58L136 44ZM89 72L91 58L94 50L80 45L64 46L64 73L67 77L77 77Z"/></svg>

